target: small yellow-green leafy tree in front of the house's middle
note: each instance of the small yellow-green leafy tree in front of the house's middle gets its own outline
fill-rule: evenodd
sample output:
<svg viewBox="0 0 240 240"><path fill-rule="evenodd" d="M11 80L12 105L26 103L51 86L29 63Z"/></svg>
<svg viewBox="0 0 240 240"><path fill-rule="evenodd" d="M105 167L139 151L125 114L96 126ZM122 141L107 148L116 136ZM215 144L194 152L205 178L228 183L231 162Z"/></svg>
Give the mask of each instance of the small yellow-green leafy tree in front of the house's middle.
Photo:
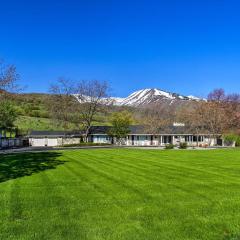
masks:
<svg viewBox="0 0 240 240"><path fill-rule="evenodd" d="M109 135L115 137L118 144L122 144L123 139L129 134L129 126L133 122L131 113L128 111L115 112L112 114L110 122L112 128Z"/></svg>

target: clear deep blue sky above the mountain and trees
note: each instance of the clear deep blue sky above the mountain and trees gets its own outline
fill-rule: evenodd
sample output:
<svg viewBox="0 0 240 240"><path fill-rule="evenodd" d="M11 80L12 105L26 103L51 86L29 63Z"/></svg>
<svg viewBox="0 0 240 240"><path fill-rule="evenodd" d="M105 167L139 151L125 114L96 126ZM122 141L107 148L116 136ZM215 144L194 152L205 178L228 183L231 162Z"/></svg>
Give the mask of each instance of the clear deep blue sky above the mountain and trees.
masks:
<svg viewBox="0 0 240 240"><path fill-rule="evenodd" d="M114 96L240 92L238 2L1 1L0 57L28 92L47 92L59 76L108 80Z"/></svg>

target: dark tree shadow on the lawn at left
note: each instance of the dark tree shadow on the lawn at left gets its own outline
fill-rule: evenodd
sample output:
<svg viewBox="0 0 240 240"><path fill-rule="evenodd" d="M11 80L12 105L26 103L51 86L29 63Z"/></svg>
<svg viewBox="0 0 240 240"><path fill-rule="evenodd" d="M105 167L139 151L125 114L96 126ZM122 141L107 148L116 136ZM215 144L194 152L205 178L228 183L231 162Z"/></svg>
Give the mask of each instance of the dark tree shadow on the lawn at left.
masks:
<svg viewBox="0 0 240 240"><path fill-rule="evenodd" d="M61 155L59 152L0 155L0 183L55 169L66 162L58 159Z"/></svg>

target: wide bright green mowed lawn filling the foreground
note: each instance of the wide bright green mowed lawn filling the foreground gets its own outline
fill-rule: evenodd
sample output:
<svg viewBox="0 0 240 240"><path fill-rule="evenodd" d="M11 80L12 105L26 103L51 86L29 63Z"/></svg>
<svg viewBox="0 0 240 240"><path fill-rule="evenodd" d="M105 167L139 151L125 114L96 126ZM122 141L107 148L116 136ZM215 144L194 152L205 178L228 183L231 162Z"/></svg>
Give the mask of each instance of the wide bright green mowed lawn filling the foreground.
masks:
<svg viewBox="0 0 240 240"><path fill-rule="evenodd" d="M0 239L240 239L240 150L0 155Z"/></svg>

